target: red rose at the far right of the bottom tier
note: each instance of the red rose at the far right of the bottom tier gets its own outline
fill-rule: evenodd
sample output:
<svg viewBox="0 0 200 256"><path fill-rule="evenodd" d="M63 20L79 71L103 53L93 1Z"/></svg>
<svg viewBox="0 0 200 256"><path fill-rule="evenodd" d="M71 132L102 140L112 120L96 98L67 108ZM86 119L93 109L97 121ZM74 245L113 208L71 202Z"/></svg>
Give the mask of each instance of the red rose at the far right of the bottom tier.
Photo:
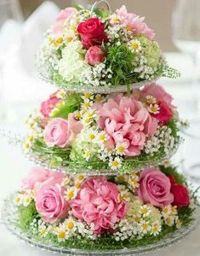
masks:
<svg viewBox="0 0 200 256"><path fill-rule="evenodd" d="M187 207L190 203L187 188L182 184L177 184L173 175L170 175L169 179L171 182L171 192L174 195L173 205L177 207Z"/></svg>

